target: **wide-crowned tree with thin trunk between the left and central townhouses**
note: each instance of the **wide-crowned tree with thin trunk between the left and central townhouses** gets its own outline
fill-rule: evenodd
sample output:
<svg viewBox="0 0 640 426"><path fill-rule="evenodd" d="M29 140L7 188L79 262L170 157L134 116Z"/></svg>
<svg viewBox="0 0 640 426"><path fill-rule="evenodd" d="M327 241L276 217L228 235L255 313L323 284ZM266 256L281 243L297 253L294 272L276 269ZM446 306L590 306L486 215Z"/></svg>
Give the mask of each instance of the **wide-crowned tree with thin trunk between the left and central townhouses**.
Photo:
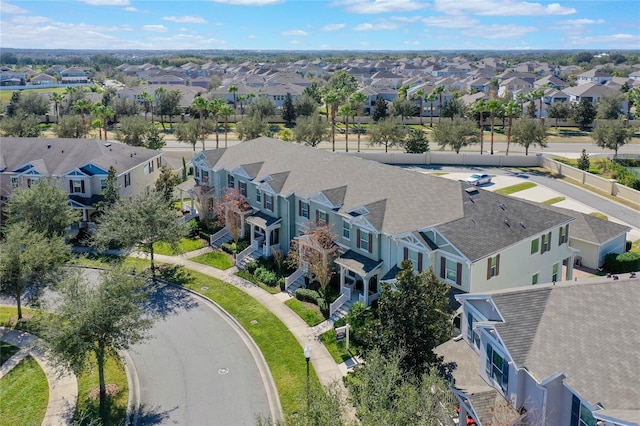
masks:
<svg viewBox="0 0 640 426"><path fill-rule="evenodd" d="M99 249L113 243L129 250L146 249L155 277L153 245L160 241L176 245L185 235L186 228L178 222L175 210L167 204L163 194L151 191L119 199L99 218L93 244Z"/></svg>

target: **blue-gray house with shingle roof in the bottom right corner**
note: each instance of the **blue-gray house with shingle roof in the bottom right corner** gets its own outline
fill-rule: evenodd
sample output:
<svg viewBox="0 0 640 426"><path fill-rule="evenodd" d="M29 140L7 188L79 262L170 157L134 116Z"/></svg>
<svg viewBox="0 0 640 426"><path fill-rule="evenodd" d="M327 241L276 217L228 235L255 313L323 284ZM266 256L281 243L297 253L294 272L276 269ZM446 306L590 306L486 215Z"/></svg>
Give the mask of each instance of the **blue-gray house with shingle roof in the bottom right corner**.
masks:
<svg viewBox="0 0 640 426"><path fill-rule="evenodd" d="M640 328L633 320L639 278L624 274L456 299L461 335L436 352L455 366L451 390L460 422L640 425Z"/></svg>

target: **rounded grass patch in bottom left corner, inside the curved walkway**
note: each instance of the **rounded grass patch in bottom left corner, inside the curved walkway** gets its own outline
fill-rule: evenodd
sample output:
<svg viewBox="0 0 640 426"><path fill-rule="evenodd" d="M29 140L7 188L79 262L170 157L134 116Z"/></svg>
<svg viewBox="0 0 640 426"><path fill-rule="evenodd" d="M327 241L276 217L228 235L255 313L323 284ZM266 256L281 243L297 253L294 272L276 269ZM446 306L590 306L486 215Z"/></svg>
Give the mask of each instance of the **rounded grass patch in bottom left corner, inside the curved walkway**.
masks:
<svg viewBox="0 0 640 426"><path fill-rule="evenodd" d="M3 425L40 425L49 403L49 382L35 359L27 356L0 379Z"/></svg>

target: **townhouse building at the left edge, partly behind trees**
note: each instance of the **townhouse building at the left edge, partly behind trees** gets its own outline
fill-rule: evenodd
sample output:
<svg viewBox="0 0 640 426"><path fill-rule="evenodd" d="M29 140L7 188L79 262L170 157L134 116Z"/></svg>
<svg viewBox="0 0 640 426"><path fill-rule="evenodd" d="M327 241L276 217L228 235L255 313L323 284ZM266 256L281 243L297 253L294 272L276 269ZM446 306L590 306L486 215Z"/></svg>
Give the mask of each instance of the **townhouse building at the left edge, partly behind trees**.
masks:
<svg viewBox="0 0 640 426"><path fill-rule="evenodd" d="M92 220L102 199L109 167L117 171L120 195L148 191L160 174L162 152L90 139L0 139L0 197L18 187L53 179L69 193L70 204Z"/></svg>

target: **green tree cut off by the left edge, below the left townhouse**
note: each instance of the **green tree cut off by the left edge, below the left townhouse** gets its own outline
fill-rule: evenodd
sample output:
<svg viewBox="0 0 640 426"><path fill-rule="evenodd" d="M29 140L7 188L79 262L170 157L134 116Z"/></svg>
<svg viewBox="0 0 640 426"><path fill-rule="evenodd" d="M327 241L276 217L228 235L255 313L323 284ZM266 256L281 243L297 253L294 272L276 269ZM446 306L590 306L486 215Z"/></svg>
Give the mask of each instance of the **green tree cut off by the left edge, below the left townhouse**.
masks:
<svg viewBox="0 0 640 426"><path fill-rule="evenodd" d="M61 236L49 238L24 223L14 223L4 228L0 253L0 293L16 301L20 320L22 298L34 300L42 288L55 282L71 251Z"/></svg>

